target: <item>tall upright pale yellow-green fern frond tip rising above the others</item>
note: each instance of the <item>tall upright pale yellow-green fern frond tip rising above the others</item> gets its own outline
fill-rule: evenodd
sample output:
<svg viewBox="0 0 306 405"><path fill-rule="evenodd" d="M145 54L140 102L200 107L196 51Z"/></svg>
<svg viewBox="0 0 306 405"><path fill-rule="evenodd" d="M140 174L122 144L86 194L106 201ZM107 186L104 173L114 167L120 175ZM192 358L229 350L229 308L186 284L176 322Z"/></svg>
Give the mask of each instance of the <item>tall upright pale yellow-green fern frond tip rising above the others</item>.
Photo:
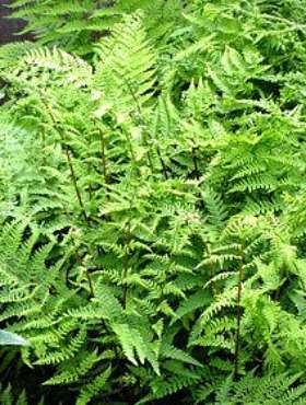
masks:
<svg viewBox="0 0 306 405"><path fill-rule="evenodd" d="M94 86L104 95L103 105L109 103L113 108L117 107L117 114L127 114L132 107L142 120L141 109L151 97L155 80L155 58L141 16L134 14L115 25L111 35L96 47L96 54ZM98 106L97 114L101 108Z"/></svg>

